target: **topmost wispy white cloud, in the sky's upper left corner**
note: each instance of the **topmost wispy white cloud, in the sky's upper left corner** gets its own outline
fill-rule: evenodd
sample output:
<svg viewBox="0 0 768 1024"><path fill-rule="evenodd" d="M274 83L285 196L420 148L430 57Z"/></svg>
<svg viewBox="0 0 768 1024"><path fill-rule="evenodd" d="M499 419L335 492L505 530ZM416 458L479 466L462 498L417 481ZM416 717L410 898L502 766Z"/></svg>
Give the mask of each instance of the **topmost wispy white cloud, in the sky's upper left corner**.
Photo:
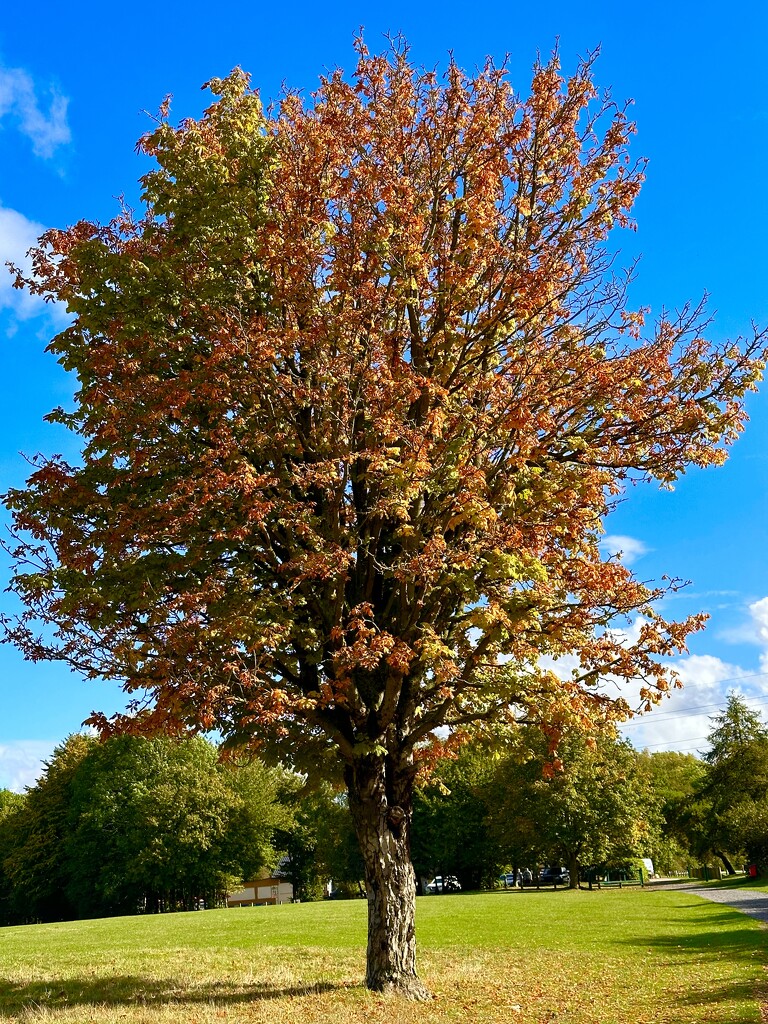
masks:
<svg viewBox="0 0 768 1024"><path fill-rule="evenodd" d="M44 101L31 76L22 68L0 68L0 122L7 119L32 142L36 157L49 159L71 139L67 123L69 99L51 88Z"/></svg>

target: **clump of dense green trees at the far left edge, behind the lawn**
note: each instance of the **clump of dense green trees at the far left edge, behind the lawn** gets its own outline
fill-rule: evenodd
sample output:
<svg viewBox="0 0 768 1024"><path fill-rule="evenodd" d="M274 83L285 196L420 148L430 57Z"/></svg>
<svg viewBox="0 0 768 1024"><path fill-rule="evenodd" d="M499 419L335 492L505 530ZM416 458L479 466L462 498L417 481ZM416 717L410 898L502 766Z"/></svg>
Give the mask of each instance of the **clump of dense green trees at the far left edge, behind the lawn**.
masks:
<svg viewBox="0 0 768 1024"><path fill-rule="evenodd" d="M70 736L0 818L0 922L214 905L271 865L282 774L202 737Z"/></svg>

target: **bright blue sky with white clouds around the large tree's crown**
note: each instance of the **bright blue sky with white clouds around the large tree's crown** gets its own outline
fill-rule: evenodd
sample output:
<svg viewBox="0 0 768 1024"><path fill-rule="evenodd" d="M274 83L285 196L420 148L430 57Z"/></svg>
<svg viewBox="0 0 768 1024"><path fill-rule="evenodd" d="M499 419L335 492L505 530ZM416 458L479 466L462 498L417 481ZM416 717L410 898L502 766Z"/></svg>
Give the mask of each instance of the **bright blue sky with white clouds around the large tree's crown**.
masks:
<svg viewBox="0 0 768 1024"><path fill-rule="evenodd" d="M135 201L145 164L134 146L151 124L143 112L167 93L173 117L197 116L201 85L236 65L265 100L282 83L311 91L324 71L352 66L361 27L372 49L401 32L429 67L444 67L449 51L467 69L509 53L520 91L537 52L559 42L567 72L600 46L597 83L618 101L634 99L634 154L649 158L638 231L615 239L624 262L642 254L633 303L658 312L707 292L714 337L768 324L768 7L758 0L710 8L552 0L539 9L483 0L262 8L169 0L134 2L130 13L79 0L15 5L0 24L0 262L20 260L45 227L106 220L121 194ZM25 478L19 453L71 450L42 423L73 391L43 354L56 327L55 311L0 278L2 490ZM692 581L670 614L711 615L679 659L684 691L627 728L637 745L702 749L709 716L730 687L768 710L768 388L749 412L725 467L691 472L672 494L636 488L606 524L608 547L622 548L643 580ZM7 596L0 604L10 608ZM120 703L116 687L0 649L0 786L32 782L40 759L92 709Z"/></svg>

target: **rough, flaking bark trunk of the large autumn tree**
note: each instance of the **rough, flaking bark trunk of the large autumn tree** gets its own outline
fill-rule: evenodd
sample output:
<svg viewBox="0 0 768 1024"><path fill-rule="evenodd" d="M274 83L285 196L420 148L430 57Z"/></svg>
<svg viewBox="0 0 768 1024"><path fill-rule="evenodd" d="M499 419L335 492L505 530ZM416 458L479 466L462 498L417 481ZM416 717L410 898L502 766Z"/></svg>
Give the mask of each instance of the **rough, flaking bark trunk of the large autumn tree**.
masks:
<svg viewBox="0 0 768 1024"><path fill-rule="evenodd" d="M369 755L345 770L349 808L366 867L366 985L427 999L416 973L416 874L411 863L414 770L408 760Z"/></svg>

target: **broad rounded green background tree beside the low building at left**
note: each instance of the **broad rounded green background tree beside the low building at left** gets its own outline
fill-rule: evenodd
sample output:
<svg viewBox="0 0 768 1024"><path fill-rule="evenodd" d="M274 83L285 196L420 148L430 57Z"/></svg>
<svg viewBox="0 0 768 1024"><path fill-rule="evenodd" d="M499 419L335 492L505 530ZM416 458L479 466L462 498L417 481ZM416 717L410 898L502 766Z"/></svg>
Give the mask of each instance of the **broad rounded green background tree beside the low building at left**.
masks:
<svg viewBox="0 0 768 1024"><path fill-rule="evenodd" d="M113 737L83 760L59 851L80 918L217 905L271 868L289 815L280 778L259 762L234 771L202 737Z"/></svg>

